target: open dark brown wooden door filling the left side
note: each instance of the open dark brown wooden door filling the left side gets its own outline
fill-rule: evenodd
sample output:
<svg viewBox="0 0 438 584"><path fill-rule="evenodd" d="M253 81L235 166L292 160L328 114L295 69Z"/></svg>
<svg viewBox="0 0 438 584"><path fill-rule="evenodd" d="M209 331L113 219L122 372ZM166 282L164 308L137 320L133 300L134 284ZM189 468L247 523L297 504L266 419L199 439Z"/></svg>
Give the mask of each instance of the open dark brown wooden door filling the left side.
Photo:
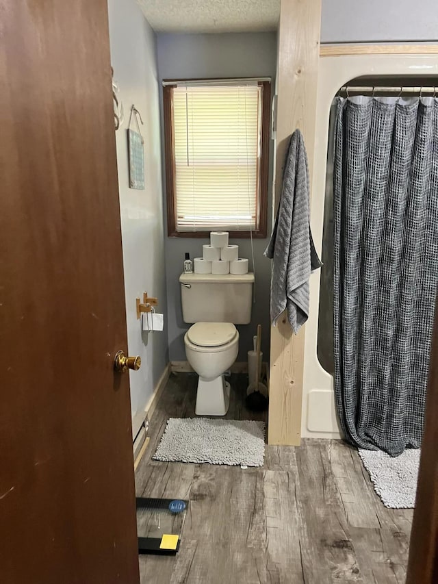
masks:
<svg viewBox="0 0 438 584"><path fill-rule="evenodd" d="M1 0L0 79L0 581L136 583L106 0Z"/></svg>

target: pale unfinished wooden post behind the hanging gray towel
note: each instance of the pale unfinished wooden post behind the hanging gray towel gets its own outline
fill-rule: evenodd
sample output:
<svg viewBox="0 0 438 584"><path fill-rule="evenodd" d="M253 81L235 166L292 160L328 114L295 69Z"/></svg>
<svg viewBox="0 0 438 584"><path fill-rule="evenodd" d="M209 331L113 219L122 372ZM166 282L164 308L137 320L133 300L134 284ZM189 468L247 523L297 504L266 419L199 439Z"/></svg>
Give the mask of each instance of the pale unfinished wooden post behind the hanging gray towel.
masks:
<svg viewBox="0 0 438 584"><path fill-rule="evenodd" d="M289 137L299 128L312 176L321 0L281 0L276 116L275 208ZM298 335L283 315L271 329L268 444L300 444L304 327Z"/></svg>

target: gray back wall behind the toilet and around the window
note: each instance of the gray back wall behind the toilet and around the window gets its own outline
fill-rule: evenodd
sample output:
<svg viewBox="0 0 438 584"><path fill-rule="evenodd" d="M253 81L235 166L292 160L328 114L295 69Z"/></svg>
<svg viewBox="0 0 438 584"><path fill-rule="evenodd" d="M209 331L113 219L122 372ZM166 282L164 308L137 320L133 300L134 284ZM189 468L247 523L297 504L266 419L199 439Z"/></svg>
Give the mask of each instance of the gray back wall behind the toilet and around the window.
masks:
<svg viewBox="0 0 438 584"><path fill-rule="evenodd" d="M272 77L276 73L276 33L246 34L158 34L158 75L162 79L196 77ZM272 84L272 88L274 84ZM164 138L163 138L164 142ZM272 142L271 142L272 151ZM270 161L268 201L268 231L271 225L272 152ZM165 192L165 190L164 190ZM164 195L165 196L165 195ZM166 277L168 294L168 341L172 361L185 361L183 335L185 325L181 314L181 294L178 278L183 267L184 253L190 257L202 255L202 245L208 240L166 237ZM240 256L250 258L250 241L231 240L240 246ZM238 361L246 360L252 348L256 325L263 327L263 359L269 355L270 260L263 256L268 239L254 240L256 266L256 302L250 325L238 327L240 353Z"/></svg>

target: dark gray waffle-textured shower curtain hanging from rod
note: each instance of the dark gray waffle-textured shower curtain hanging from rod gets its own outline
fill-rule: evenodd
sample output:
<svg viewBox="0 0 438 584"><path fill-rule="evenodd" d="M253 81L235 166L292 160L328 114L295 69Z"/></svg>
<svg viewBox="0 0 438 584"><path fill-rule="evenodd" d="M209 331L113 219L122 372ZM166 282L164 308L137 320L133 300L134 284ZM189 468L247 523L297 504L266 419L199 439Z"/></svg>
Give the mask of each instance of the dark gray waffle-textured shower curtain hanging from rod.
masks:
<svg viewBox="0 0 438 584"><path fill-rule="evenodd" d="M438 281L438 101L338 98L335 396L346 440L422 440Z"/></svg>

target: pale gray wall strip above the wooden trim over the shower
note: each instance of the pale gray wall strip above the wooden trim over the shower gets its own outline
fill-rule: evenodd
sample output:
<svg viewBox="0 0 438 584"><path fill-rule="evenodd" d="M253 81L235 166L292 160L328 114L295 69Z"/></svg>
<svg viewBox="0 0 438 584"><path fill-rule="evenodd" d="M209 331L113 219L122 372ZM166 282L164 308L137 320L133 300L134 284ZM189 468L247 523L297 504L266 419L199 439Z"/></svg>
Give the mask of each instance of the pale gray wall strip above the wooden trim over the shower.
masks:
<svg viewBox="0 0 438 584"><path fill-rule="evenodd" d="M437 0L322 0L322 42L437 38Z"/></svg>

